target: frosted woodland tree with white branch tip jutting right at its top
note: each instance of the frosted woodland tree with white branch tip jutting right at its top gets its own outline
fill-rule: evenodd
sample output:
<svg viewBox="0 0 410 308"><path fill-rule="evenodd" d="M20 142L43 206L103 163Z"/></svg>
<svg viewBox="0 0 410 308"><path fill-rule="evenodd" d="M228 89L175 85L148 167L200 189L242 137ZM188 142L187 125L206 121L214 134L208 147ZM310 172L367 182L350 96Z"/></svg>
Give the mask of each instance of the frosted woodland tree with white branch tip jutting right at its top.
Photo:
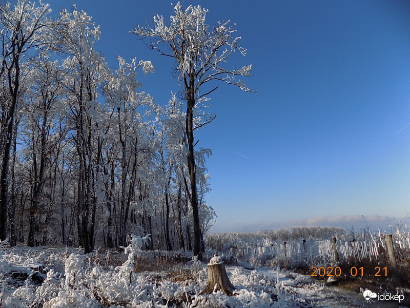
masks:
<svg viewBox="0 0 410 308"><path fill-rule="evenodd" d="M116 112L116 136L121 148L121 200L120 200L120 234L119 244L125 245L127 238L127 222L130 214L130 205L134 201L135 186L138 179L138 166L149 153L149 146L145 146L142 135L144 123L142 119L149 110L144 112L145 106L150 106L152 98L137 89L141 84L136 80L136 70L142 67L144 73L153 72L150 61L132 59L126 63L118 56L119 67L115 74L106 82L104 91L107 102ZM142 112L142 114L141 114Z"/></svg>

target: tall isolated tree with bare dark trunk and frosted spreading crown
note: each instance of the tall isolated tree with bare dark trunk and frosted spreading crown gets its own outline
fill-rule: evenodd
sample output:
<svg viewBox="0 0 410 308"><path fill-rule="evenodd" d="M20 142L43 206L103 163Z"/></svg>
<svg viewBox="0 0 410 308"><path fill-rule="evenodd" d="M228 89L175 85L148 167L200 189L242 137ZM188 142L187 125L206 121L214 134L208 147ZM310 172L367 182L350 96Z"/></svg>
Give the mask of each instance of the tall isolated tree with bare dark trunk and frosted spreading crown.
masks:
<svg viewBox="0 0 410 308"><path fill-rule="evenodd" d="M212 81L222 81L235 85L243 91L252 92L238 76L250 76L252 65L239 69L227 68L228 58L235 51L242 55L246 49L239 45L240 37L228 22L218 22L210 29L206 24L208 10L198 6L186 9L178 2L174 15L167 25L163 16L153 17L153 25L137 26L131 33L147 38L147 46L158 50L159 54L173 57L178 81L181 81L182 98L187 101L186 134L188 139L188 169L191 184L191 204L194 220L194 254L202 259L200 245L200 221L198 193L194 157L194 131L210 123L215 116L204 112L203 103L218 86L207 87ZM195 125L201 118L201 124Z"/></svg>

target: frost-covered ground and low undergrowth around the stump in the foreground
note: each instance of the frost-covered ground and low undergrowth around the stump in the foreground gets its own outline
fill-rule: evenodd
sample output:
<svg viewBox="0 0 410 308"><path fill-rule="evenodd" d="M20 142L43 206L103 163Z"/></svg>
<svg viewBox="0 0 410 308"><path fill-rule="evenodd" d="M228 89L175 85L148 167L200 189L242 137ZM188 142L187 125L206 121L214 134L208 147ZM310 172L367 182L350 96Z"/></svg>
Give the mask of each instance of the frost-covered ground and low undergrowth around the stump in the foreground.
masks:
<svg viewBox="0 0 410 308"><path fill-rule="evenodd" d="M192 260L171 271L135 272L134 246L120 265L113 254L78 254L78 249L0 250L0 306L74 307L395 307L393 302L366 302L310 276L270 268L227 266L237 290L232 297L199 295L207 284L207 266ZM145 253L147 254L147 253ZM149 254L149 253L148 253ZM115 262L114 262L115 263ZM122 263L122 264L121 264ZM387 305L386 305L387 304Z"/></svg>

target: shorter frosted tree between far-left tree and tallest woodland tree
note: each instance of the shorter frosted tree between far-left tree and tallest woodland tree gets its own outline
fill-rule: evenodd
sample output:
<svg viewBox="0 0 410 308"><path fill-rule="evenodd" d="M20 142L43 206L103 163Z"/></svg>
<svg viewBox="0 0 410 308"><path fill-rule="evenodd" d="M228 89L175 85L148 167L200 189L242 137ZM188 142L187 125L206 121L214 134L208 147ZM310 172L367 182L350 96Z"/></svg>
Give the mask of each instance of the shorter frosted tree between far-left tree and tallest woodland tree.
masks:
<svg viewBox="0 0 410 308"><path fill-rule="evenodd" d="M46 192L46 175L52 172L52 165L57 167L58 152L61 140L65 138L65 108L61 104L63 95L63 70L58 67L57 60L51 60L46 52L40 52L30 60L28 85L24 106L24 139L29 146L31 161L31 200L29 211L29 234L27 245L35 246L39 225L39 206L50 207L53 202L52 191ZM55 155L55 156L54 156ZM53 157L54 156L54 157ZM57 158L57 159L56 159ZM49 175L50 176L50 175ZM54 190L53 190L54 191ZM43 209L43 213L44 213ZM47 219L47 215L46 218Z"/></svg>

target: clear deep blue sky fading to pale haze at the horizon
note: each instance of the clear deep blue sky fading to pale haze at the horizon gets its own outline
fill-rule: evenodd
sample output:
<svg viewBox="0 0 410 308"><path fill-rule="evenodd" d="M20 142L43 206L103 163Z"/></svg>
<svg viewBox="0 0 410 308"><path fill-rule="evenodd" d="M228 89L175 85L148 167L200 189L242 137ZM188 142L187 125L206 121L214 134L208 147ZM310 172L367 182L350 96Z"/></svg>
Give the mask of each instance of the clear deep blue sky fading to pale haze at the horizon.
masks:
<svg viewBox="0 0 410 308"><path fill-rule="evenodd" d="M71 5L50 2L53 14ZM168 102L178 90L172 59L128 31L154 14L169 17L170 1L76 4L100 24L97 49L110 65L116 67L118 54L151 60L155 73L140 73L139 80L157 104ZM198 146L213 150L207 202L218 215L214 232L406 217L409 1L184 4L209 9L210 25L236 23L248 55L235 55L231 64L254 65L247 83L257 93L220 85L211 100L217 118L197 134Z"/></svg>

